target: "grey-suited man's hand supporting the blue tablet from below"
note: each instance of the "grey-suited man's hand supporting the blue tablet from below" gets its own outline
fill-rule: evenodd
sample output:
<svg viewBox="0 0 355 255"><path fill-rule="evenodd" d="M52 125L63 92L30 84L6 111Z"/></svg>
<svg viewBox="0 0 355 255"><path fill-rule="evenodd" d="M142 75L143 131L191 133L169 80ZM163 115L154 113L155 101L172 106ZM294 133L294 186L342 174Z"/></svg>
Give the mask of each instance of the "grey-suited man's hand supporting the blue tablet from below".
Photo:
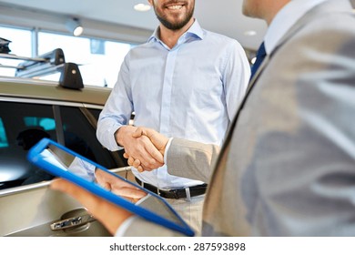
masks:
<svg viewBox="0 0 355 255"><path fill-rule="evenodd" d="M65 179L52 181L50 188L65 192L78 200L112 235L117 232L119 226L126 219L132 216L132 213L126 209L122 209L105 199L96 197L89 191L86 191L86 189L82 189Z"/></svg>

